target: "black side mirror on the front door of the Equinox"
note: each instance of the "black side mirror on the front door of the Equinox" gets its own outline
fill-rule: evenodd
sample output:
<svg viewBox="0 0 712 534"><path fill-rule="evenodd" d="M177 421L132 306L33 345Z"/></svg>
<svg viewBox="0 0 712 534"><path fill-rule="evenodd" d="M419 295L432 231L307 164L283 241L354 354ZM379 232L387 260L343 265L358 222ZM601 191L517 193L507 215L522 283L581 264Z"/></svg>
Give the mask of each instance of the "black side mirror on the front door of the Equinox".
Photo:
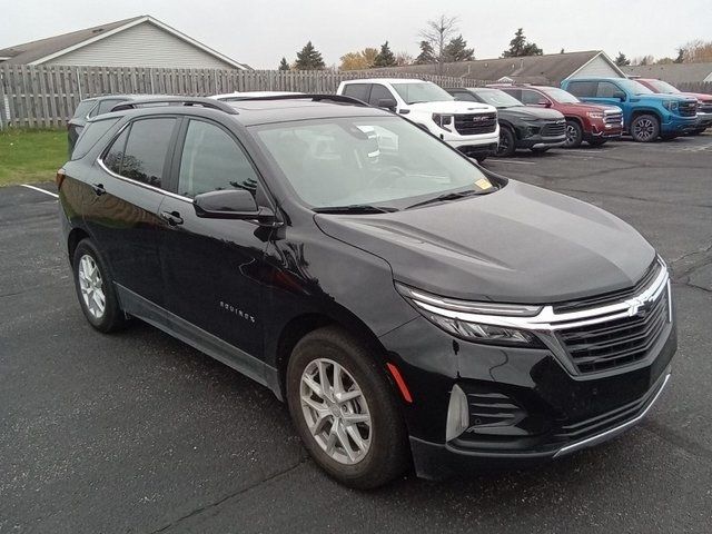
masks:
<svg viewBox="0 0 712 534"><path fill-rule="evenodd" d="M205 219L243 219L267 222L275 214L268 208L259 208L253 194L246 189L209 191L197 195L192 200L196 215Z"/></svg>

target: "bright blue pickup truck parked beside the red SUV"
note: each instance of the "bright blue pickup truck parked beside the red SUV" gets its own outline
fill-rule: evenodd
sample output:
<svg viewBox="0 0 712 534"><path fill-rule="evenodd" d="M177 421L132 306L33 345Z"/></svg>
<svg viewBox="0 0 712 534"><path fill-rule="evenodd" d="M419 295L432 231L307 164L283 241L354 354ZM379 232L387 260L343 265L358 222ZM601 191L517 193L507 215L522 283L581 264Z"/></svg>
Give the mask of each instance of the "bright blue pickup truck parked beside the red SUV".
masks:
<svg viewBox="0 0 712 534"><path fill-rule="evenodd" d="M694 98L655 95L627 78L574 78L562 81L561 87L584 102L620 107L626 131L639 142L651 142L659 137L673 139L696 126Z"/></svg>

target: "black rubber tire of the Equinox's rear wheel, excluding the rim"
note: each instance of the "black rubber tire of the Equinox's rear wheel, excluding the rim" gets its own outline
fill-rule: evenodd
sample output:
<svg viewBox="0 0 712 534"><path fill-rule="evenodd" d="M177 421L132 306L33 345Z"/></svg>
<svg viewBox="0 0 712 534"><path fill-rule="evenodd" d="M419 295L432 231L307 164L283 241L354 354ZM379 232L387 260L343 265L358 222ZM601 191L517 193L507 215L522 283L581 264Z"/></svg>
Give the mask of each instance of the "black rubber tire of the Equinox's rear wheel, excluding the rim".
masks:
<svg viewBox="0 0 712 534"><path fill-rule="evenodd" d="M85 300L85 296L80 283L80 271L82 269L82 258L88 256L91 258L98 269L100 276L100 288L103 294L103 313L96 315L91 312L89 305ZM72 256L72 271L75 275L75 287L77 289L77 297L79 298L79 305L85 314L85 317L91 326L97 330L103 333L116 332L123 328L127 324L127 318L121 308L119 307L119 300L116 296L116 289L113 287L113 280L107 268L107 264L97 249L96 245L90 239L82 239L75 249ZM90 297L88 297L90 299ZM91 301L91 299L90 299Z"/></svg>

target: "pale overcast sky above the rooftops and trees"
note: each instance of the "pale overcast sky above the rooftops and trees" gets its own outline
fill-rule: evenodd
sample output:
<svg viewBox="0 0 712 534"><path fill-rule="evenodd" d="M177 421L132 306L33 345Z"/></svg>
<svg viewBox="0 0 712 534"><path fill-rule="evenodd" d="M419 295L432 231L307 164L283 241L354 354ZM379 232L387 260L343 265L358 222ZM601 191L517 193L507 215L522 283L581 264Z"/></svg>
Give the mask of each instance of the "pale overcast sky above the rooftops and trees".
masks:
<svg viewBox="0 0 712 534"><path fill-rule="evenodd" d="M255 68L276 68L312 40L327 66L377 47L418 53L418 30L441 12L478 59L496 58L514 31L545 53L603 49L614 57L675 56L692 39L712 40L712 0L4 0L0 48L138 14L151 14Z"/></svg>

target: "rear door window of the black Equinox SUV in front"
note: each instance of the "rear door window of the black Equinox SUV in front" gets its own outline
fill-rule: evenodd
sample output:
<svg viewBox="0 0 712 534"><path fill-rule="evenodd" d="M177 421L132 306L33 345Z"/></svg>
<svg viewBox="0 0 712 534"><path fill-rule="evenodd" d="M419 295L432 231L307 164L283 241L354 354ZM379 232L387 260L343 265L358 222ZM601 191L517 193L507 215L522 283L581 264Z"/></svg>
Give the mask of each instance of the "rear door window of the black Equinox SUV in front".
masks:
<svg viewBox="0 0 712 534"><path fill-rule="evenodd" d="M161 187L164 166L176 119L139 119L121 134L105 157L105 165L117 175ZM122 138L128 139L122 141Z"/></svg>

